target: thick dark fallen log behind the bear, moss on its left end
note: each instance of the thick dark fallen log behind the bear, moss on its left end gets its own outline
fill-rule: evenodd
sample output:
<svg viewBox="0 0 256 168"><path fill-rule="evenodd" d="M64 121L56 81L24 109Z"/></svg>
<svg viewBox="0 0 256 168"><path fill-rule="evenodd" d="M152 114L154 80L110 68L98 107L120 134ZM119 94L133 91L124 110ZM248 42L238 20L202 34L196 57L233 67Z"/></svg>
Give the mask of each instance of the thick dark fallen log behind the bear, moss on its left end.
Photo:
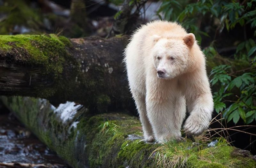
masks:
<svg viewBox="0 0 256 168"><path fill-rule="evenodd" d="M75 101L94 111L133 106L122 64L127 40L0 36L0 95Z"/></svg>

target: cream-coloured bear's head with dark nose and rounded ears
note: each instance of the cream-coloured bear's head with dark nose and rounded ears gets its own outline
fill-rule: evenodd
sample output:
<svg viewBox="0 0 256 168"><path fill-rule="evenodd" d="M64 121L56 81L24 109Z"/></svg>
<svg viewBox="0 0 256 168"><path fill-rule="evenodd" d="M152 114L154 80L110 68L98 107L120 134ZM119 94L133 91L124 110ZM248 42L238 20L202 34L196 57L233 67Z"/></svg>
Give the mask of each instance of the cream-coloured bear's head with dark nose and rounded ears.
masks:
<svg viewBox="0 0 256 168"><path fill-rule="evenodd" d="M188 68L189 52L195 43L192 33L184 37L153 36L152 50L156 75L159 78L172 79L183 74Z"/></svg>

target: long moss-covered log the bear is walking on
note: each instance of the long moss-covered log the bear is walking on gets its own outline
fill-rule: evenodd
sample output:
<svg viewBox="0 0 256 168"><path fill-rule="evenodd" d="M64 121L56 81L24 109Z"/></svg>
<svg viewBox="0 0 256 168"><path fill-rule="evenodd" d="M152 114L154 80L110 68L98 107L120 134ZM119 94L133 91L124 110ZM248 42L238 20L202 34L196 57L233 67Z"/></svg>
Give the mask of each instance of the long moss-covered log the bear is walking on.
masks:
<svg viewBox="0 0 256 168"><path fill-rule="evenodd" d="M231 147L223 139L212 147L189 139L145 143L138 118L121 112L91 116L74 102L55 108L45 99L2 96L0 100L73 167L256 167L249 151Z"/></svg>

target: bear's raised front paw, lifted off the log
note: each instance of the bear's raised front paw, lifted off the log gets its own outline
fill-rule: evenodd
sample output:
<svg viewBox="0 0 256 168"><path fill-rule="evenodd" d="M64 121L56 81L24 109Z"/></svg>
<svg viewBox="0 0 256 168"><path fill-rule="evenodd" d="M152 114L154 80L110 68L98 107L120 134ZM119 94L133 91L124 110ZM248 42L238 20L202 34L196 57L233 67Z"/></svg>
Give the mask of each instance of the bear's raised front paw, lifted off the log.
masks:
<svg viewBox="0 0 256 168"><path fill-rule="evenodd" d="M208 125L209 123L199 123L198 120L189 116L184 124L184 131L188 135L200 135L208 128Z"/></svg>

